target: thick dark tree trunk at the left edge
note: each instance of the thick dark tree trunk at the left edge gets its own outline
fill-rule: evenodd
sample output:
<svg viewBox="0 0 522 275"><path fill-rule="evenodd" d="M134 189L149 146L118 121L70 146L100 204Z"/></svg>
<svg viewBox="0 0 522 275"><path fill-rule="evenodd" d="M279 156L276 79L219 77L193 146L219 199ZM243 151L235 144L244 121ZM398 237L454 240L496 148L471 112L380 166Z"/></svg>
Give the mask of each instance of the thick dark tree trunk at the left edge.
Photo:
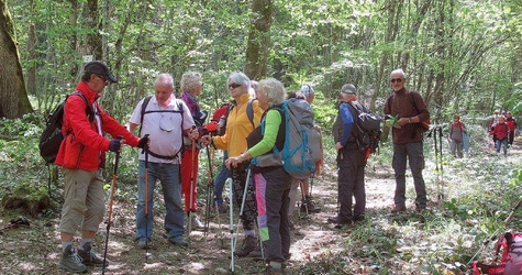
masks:
<svg viewBox="0 0 522 275"><path fill-rule="evenodd" d="M7 118L32 112L25 91L13 21L7 2L0 0L0 106Z"/></svg>

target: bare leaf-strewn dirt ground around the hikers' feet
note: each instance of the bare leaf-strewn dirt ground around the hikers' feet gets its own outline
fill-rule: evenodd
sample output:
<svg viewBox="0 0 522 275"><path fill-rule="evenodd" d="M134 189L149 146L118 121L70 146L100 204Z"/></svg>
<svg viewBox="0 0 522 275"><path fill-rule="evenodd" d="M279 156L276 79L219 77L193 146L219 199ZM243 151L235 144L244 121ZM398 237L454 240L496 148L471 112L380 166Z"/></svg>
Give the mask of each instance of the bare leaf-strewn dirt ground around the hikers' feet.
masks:
<svg viewBox="0 0 522 275"><path fill-rule="evenodd" d="M520 140L520 139L519 139ZM520 145L518 146L520 147ZM518 153L517 153L518 152ZM519 154L519 151L510 154ZM391 216L395 180L390 165L368 165L366 175L366 208L367 219L352 227L335 229L326 223L329 217L336 213L336 170L334 166L325 166L322 176L314 180L312 194L315 202L322 208L319 213L307 217L295 212L291 231L291 260L288 262L287 274L326 274L325 258L346 251L345 239L355 227L379 227L377 217ZM412 188L408 179L408 188ZM204 188L204 187L203 187ZM227 188L225 189L225 194ZM156 188L156 198L160 196L160 188ZM433 197L433 196L432 196ZM204 200L202 198L199 199ZM431 198L430 208L435 208ZM300 201L300 200L298 200ZM408 200L409 215L414 216L414 206ZM200 207L199 217L204 220L204 206ZM234 211L234 224L237 224L237 210ZM134 242L135 202L125 200L123 195L115 196L113 223L110 228L108 253L111 265L107 274L229 274L231 273L231 232L229 213L211 215L210 230L192 231L189 238L190 245L180 248L170 244L163 235L163 219L165 210L163 202L155 205L155 226L153 234L154 249L145 257L145 250L137 249ZM57 216L57 215L56 215ZM7 213L0 215L0 224L9 224ZM406 218L409 219L409 218ZM31 219L30 227L12 227L2 229L0 234L0 274L68 274L58 268L60 258L60 242L58 233L59 217L37 220ZM375 224L374 224L375 223ZM103 255L107 226L100 224L100 232L95 240L96 250ZM237 229L236 229L237 231ZM241 232L241 227L240 227ZM237 235L237 246L243 235ZM356 257L354 250L346 261L346 268L327 274L379 274L379 266L364 257ZM327 261L326 261L327 262ZM335 264L335 263L332 263ZM265 263L259 258L235 257L235 274L263 274ZM89 267L89 274L101 274L100 267ZM389 268L389 274L403 274L398 270Z"/></svg>

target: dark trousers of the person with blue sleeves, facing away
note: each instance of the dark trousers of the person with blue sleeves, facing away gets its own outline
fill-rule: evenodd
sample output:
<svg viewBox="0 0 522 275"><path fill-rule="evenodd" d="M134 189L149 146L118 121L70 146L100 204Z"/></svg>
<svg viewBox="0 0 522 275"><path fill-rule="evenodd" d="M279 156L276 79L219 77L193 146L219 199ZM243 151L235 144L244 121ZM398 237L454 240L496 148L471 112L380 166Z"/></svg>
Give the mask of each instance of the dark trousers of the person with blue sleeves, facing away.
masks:
<svg viewBox="0 0 522 275"><path fill-rule="evenodd" d="M337 155L337 201L341 205L337 221L343 223L365 213L365 153L358 148L342 150ZM353 198L355 205L352 211Z"/></svg>

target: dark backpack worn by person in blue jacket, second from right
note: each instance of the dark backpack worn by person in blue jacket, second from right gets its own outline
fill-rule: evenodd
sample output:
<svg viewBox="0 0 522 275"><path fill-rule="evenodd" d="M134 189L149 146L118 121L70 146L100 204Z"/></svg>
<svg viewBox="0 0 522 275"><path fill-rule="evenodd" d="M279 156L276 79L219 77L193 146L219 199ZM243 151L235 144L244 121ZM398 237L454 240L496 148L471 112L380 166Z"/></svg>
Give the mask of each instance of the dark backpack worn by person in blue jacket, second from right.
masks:
<svg viewBox="0 0 522 275"><path fill-rule="evenodd" d="M382 118L376 113L370 112L366 107L356 101L344 102L351 108L352 117L355 121L355 141L360 151L368 151L369 153L377 152L380 142L380 122ZM369 155L369 154L368 154Z"/></svg>

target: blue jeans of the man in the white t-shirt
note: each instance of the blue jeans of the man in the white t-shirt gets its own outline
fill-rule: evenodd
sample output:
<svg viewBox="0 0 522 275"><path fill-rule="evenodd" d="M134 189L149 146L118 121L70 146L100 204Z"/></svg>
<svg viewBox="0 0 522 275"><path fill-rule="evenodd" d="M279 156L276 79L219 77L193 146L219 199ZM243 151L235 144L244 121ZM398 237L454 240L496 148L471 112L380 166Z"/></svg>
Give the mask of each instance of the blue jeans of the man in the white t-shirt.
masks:
<svg viewBox="0 0 522 275"><path fill-rule="evenodd" d="M145 216L145 162L138 163L137 183L137 212L136 212L136 239L151 238L153 233L154 217L154 187L156 180L162 183L163 197L165 200L165 230L169 240L184 238L185 221L184 206L181 204L181 182L179 179L179 164L148 163L148 215ZM146 218L147 219L146 219ZM145 227L146 223L146 227Z"/></svg>

